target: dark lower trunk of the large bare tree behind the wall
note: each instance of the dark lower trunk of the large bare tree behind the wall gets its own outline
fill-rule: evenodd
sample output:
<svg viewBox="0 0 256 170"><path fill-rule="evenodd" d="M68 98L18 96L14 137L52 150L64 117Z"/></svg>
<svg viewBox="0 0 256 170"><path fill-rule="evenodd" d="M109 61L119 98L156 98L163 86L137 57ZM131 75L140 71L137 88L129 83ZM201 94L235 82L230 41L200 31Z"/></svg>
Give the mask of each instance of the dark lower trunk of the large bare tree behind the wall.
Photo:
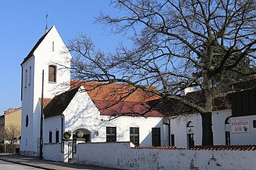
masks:
<svg viewBox="0 0 256 170"><path fill-rule="evenodd" d="M202 143L201 145L214 145L214 136L212 132L211 113L201 113L202 123Z"/></svg>

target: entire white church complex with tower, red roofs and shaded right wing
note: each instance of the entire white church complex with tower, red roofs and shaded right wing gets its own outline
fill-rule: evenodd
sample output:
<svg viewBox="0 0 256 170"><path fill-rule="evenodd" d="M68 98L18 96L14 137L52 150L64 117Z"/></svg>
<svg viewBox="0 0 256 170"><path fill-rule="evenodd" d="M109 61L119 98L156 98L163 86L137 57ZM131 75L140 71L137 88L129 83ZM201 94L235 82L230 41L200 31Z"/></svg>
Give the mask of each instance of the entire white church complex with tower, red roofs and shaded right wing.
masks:
<svg viewBox="0 0 256 170"><path fill-rule="evenodd" d="M67 69L71 59L57 29L52 26L20 64L20 154L39 156L40 149L51 152L52 149L47 150L50 145L56 145L62 148L60 152L64 152L64 144L73 148L73 141L131 141L139 147L201 145L199 114L164 117L156 110L148 111L147 101L158 97L139 90L117 102L124 92L130 91L129 86L71 81L70 70ZM231 107L214 110L214 145L241 144L233 138L230 116ZM231 143L230 138L234 139Z"/></svg>

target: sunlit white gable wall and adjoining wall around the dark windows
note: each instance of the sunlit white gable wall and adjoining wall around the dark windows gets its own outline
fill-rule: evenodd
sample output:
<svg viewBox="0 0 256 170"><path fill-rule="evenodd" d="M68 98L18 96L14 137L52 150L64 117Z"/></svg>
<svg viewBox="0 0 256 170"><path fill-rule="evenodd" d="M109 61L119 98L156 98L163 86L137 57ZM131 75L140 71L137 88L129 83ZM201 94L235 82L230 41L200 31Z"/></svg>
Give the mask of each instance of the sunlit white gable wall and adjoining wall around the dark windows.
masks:
<svg viewBox="0 0 256 170"><path fill-rule="evenodd" d="M139 142L141 146L151 146L151 128L161 128L161 138L164 126L161 117L131 117L121 116L109 121L110 116L100 116L86 91L78 91L64 110L64 131L75 131L86 128L91 131L92 142L106 141L106 127L117 127L117 141L130 141L130 127L139 128ZM95 135L95 131L98 135ZM162 146L164 145L164 139ZM166 140L165 140L166 141Z"/></svg>

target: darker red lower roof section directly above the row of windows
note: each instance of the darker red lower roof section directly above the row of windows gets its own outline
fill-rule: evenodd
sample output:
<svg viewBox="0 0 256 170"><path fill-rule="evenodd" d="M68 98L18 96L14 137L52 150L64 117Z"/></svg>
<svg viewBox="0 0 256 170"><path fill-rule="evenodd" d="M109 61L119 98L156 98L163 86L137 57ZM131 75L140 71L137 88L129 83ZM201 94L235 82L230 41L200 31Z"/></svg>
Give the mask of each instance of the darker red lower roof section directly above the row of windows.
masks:
<svg viewBox="0 0 256 170"><path fill-rule="evenodd" d="M93 100L93 103L102 116L164 117L160 112L151 110L146 103L110 100Z"/></svg>

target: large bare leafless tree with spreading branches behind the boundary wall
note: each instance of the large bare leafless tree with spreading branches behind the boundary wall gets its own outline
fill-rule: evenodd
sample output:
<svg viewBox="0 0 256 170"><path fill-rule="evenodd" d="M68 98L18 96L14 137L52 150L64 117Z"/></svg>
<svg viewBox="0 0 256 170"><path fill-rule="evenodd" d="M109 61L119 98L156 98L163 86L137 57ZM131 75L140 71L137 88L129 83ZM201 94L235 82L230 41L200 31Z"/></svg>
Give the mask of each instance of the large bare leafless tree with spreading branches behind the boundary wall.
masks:
<svg viewBox="0 0 256 170"><path fill-rule="evenodd" d="M223 73L255 74L255 1L119 0L111 5L120 14L100 14L97 21L127 36L131 45L104 54L86 36L76 37L69 45L74 78L123 82L185 104L201 114L202 145L212 145L214 99L229 93L217 90ZM248 69L241 70L245 60ZM192 87L201 90L200 100L179 95Z"/></svg>

